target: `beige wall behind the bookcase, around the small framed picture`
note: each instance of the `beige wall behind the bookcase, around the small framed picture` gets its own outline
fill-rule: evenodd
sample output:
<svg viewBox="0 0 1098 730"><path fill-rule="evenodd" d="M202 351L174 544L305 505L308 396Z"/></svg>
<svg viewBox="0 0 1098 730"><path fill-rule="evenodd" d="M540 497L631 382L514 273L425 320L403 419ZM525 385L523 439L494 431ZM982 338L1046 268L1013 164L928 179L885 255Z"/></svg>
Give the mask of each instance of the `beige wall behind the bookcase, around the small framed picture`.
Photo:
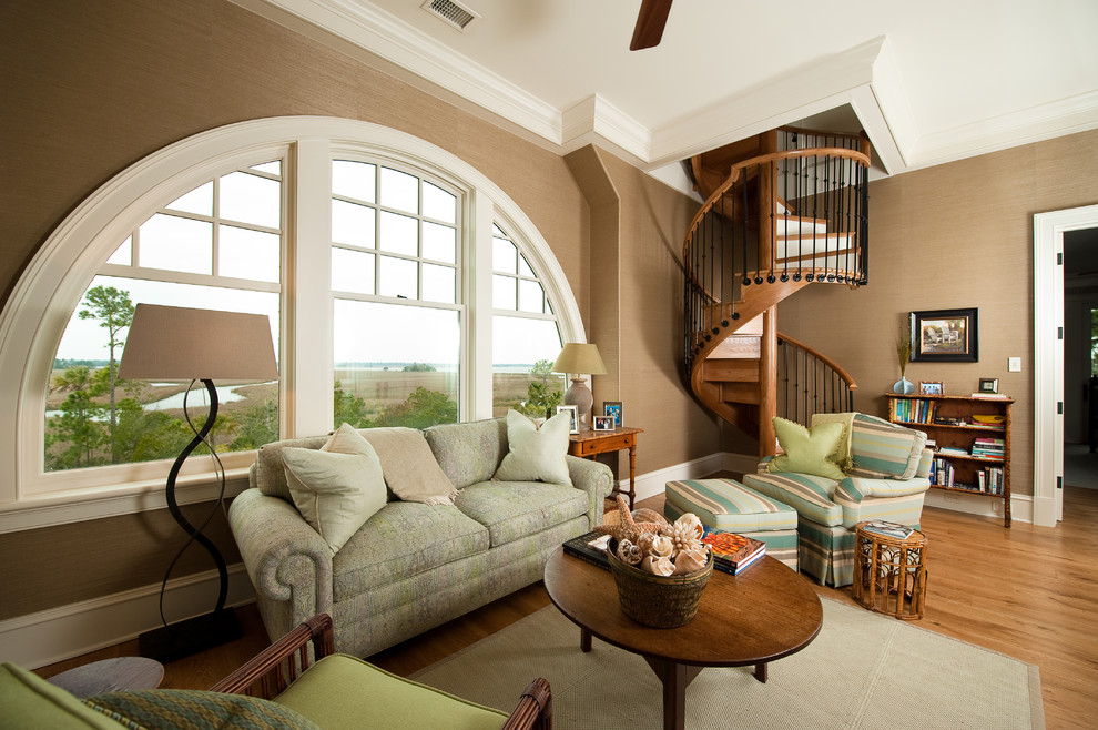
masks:
<svg viewBox="0 0 1098 730"><path fill-rule="evenodd" d="M1098 132L928 168L870 184L870 284L809 286L779 306L790 336L858 383L855 407L884 416L899 379L895 341L908 314L979 308L978 363L909 363L907 379L968 395L982 377L1013 396L1011 488L1034 493L1036 213L1098 202ZM1007 357L1021 372L1007 372Z"/></svg>

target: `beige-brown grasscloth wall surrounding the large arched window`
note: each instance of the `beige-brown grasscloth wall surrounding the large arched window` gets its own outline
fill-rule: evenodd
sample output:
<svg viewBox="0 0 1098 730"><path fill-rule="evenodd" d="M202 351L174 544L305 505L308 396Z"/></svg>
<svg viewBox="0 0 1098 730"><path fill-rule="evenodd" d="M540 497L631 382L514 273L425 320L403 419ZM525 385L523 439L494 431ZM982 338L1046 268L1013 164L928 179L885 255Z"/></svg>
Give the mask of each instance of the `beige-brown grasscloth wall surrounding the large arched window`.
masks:
<svg viewBox="0 0 1098 730"><path fill-rule="evenodd" d="M0 27L3 300L64 216L126 166L224 124L315 114L408 132L484 172L538 226L568 277L588 329L596 328L590 210L559 154L225 0L8 0L0 4ZM662 201L659 215L681 217L673 211L692 205L649 182L657 185L655 192L638 186L627 194L654 194ZM644 211L645 205L627 197L623 207ZM628 215L631 221L641 219L640 212ZM622 268L623 295L629 297L634 295L624 277L633 275L632 265L627 262ZM670 271L648 271L645 285L662 273ZM659 286L661 301L670 301L671 285ZM630 363L643 367L645 383L653 367L657 382L673 381L671 352L653 352L671 344L670 337L665 332L653 335L652 328L665 328L673 314L660 314L655 324L638 317L626 312L621 318L628 346L636 347L632 341L644 343L640 358L628 351ZM618 326L603 318L603 334L608 322ZM606 336L617 335L611 331ZM629 402L628 415L638 422L659 415L660 425L643 445L641 469L677 464L687 453L714 445L710 438L684 448L682 434L691 428L681 408L669 413L642 406L645 392L639 381L627 379L621 387L618 398L600 397ZM230 562L238 560L227 528L217 521L216 541ZM0 619L157 582L172 555L171 526L165 510L0 535ZM176 575L210 567L201 551L192 550Z"/></svg>

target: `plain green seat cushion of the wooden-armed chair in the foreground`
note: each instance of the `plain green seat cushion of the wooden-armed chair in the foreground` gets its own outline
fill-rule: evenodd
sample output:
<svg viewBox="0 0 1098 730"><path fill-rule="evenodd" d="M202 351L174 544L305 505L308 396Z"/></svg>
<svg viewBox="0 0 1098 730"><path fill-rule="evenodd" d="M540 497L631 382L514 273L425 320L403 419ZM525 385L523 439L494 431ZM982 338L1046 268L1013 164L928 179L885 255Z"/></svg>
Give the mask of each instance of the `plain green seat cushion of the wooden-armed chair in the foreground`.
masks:
<svg viewBox="0 0 1098 730"><path fill-rule="evenodd" d="M275 701L323 728L499 730L507 713L335 653L319 660ZM516 698L518 701L518 698Z"/></svg>

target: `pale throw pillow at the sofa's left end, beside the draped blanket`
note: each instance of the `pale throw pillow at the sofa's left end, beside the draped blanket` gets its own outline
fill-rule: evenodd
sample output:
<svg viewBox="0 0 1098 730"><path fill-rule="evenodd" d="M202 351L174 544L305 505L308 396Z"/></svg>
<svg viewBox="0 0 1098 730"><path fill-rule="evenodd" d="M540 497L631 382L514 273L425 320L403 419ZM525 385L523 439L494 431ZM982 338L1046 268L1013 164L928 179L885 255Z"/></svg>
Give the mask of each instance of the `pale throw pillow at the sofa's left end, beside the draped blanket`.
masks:
<svg viewBox="0 0 1098 730"><path fill-rule="evenodd" d="M286 447L282 458L294 504L333 552L385 506L382 463L347 424L321 450Z"/></svg>

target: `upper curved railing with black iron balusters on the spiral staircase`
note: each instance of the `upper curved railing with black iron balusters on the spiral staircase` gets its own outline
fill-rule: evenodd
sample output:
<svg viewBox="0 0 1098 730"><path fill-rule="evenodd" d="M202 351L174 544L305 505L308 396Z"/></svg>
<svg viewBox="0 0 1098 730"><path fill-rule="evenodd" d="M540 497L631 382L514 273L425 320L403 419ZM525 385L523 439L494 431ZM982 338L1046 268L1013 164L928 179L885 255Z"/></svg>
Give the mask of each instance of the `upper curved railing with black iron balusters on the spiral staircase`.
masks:
<svg viewBox="0 0 1098 730"><path fill-rule="evenodd" d="M683 244L687 371L735 331L752 288L865 284L868 142L777 130L773 152L734 163Z"/></svg>

